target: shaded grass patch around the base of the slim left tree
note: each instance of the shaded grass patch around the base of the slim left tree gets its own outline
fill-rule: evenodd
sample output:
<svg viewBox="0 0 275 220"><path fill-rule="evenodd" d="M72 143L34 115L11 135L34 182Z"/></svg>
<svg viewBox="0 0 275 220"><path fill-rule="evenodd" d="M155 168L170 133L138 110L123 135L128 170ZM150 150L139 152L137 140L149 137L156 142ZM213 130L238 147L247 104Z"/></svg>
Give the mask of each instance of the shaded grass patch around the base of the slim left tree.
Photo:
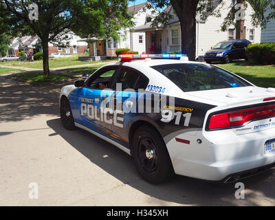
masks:
<svg viewBox="0 0 275 220"><path fill-rule="evenodd" d="M17 80L26 81L28 83L45 83L45 82L58 82L61 80L76 78L65 74L50 74L45 76L42 72L28 72L12 76Z"/></svg>

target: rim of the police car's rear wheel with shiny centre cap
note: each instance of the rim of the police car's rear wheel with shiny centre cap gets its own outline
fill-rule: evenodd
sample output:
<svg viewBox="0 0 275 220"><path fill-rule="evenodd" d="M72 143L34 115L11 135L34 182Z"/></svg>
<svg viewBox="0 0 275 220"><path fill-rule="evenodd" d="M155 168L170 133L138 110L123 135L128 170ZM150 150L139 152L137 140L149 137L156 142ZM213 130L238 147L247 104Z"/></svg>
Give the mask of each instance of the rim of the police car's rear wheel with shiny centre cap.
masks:
<svg viewBox="0 0 275 220"><path fill-rule="evenodd" d="M148 136L140 137L137 153L142 169L146 173L153 173L158 164L157 148L153 139Z"/></svg>

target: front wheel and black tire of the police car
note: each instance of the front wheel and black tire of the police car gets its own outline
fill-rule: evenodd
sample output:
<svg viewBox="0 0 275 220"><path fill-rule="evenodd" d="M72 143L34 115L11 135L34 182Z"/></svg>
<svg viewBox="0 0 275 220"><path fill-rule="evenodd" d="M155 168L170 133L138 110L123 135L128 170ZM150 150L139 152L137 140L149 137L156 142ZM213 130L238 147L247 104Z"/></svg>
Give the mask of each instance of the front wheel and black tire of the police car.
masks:
<svg viewBox="0 0 275 220"><path fill-rule="evenodd" d="M74 117L73 117L72 109L69 106L69 101L67 100L67 98L61 99L60 113L61 113L61 122L65 127L65 129L67 130L76 129L76 126L74 125Z"/></svg>

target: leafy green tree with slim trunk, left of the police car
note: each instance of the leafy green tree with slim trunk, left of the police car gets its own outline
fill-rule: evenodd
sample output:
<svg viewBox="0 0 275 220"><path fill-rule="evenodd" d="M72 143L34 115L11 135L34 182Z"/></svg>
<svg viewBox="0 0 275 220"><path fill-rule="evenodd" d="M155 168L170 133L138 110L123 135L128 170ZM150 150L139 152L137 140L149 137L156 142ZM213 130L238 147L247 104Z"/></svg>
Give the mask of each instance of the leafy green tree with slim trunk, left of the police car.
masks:
<svg viewBox="0 0 275 220"><path fill-rule="evenodd" d="M30 19L36 14L38 20ZM118 30L133 25L126 0L0 0L0 11L9 14L10 30L39 36L43 48L43 70L49 76L49 42L58 41L67 30L81 36L118 39Z"/></svg>

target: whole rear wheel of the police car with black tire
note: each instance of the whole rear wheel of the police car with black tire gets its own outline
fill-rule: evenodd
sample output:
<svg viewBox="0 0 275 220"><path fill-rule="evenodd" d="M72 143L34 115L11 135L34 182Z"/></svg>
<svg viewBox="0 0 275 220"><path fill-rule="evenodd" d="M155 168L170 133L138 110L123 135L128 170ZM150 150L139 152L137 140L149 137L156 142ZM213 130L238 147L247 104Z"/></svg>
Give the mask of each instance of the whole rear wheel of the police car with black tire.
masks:
<svg viewBox="0 0 275 220"><path fill-rule="evenodd" d="M143 179L161 184L175 175L166 144L152 126L138 128L132 143L133 162Z"/></svg>

